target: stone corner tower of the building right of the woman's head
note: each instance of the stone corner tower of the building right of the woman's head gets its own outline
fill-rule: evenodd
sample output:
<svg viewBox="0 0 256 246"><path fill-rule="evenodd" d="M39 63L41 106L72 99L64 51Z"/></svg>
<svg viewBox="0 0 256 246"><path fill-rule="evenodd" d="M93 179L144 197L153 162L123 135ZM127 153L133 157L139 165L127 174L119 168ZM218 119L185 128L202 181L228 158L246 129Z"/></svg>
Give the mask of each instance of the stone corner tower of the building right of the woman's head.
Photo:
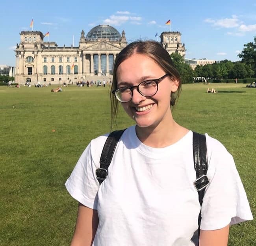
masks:
<svg viewBox="0 0 256 246"><path fill-rule="evenodd" d="M179 31L164 31L160 35L161 44L171 55L178 53L184 58L186 55L185 44L181 43L181 33Z"/></svg>

